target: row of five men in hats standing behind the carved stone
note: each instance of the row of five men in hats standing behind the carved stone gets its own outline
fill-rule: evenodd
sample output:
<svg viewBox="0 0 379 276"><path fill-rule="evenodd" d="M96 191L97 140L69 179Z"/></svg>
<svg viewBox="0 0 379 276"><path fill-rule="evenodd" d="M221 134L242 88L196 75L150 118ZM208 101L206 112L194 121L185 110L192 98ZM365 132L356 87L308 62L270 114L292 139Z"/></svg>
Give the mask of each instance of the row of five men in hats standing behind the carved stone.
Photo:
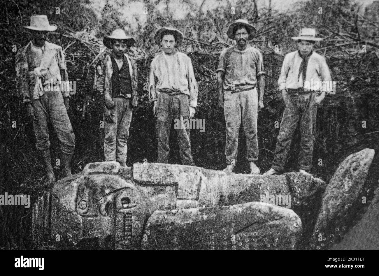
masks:
<svg viewBox="0 0 379 276"><path fill-rule="evenodd" d="M71 174L70 160L74 152L75 136L67 116L69 90L51 91L42 84L50 81L67 81L64 53L60 46L47 42L50 25L46 16L31 16L31 41L16 55L17 90L33 121L36 147L42 152L47 169L45 184L55 181L50 157L47 123L50 121L61 142L63 176ZM260 51L247 41L255 36L256 29L247 20L230 24L227 36L236 45L222 51L217 74L219 105L226 121L226 160L224 171L231 173L236 163L238 133L241 122L246 133L247 160L251 174L259 174L257 117L263 108L265 71ZM305 89L304 82L329 81L325 59L313 52L313 44L320 40L315 30L305 28L298 37L299 50L285 56L279 78L286 107L280 124L278 143L272 168L265 175L283 171L291 139L298 122L301 128L299 167L308 173L312 165L313 125L317 105L326 91ZM169 136L174 119L191 119L196 113L198 88L191 59L177 51L183 34L171 27L159 28L154 36L162 51L152 60L149 75L149 99L153 102L153 115L157 117L158 163L168 163ZM137 106L137 67L125 51L135 43L124 30L114 30L103 39L111 49L96 66L94 91L102 96L100 105L104 115L104 155L106 161L117 161L126 166L127 139L132 121L133 107ZM176 129L180 157L183 165L194 165L191 154L189 129Z"/></svg>

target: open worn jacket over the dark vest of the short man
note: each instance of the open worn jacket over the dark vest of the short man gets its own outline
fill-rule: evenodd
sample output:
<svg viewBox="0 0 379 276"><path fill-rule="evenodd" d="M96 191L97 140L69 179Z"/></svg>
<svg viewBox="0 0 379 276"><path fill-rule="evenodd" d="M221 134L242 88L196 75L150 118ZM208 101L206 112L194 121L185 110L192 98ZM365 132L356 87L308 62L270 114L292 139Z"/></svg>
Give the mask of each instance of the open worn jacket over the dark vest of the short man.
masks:
<svg viewBox="0 0 379 276"><path fill-rule="evenodd" d="M130 80L132 84L132 105L134 107L138 104L138 94L137 94L137 66L135 61L132 60L127 54L124 54L128 61ZM114 107L113 94L112 94L112 82L111 77L113 74L113 66L111 55L106 55L102 60L96 65L95 78L93 91L99 91L103 96L100 97L100 105L106 106L108 108Z"/></svg>

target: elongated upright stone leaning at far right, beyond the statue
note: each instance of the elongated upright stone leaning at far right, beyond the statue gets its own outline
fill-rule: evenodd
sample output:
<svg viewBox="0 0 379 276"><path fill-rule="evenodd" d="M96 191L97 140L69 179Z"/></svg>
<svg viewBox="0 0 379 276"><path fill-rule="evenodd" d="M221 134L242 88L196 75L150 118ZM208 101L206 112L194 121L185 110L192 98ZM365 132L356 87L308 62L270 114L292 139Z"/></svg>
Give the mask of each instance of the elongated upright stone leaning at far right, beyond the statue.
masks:
<svg viewBox="0 0 379 276"><path fill-rule="evenodd" d="M349 155L327 185L313 231L315 241L321 246L330 244L336 232L342 230L344 218L350 215L362 192L373 157L373 149Z"/></svg>

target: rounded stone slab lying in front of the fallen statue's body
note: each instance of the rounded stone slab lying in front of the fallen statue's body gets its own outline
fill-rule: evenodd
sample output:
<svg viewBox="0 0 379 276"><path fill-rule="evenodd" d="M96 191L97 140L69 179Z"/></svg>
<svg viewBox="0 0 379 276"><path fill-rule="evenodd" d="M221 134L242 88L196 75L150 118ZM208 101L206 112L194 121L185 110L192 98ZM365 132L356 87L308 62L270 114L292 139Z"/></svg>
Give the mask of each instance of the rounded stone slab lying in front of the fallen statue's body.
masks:
<svg viewBox="0 0 379 276"><path fill-rule="evenodd" d="M262 202L156 211L143 249L294 249L302 233L292 210Z"/></svg>

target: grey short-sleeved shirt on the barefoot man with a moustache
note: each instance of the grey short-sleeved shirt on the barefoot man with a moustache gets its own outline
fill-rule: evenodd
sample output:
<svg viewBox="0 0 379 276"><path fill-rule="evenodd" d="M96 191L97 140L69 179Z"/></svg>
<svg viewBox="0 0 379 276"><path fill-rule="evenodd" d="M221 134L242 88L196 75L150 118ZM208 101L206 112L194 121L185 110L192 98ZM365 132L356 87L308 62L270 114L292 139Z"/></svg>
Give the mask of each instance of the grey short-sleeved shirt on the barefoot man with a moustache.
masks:
<svg viewBox="0 0 379 276"><path fill-rule="evenodd" d="M245 50L238 50L236 46L224 49L221 52L216 72L224 72L224 90L233 90L232 86L254 88L257 77L264 75L262 53L254 47L248 46Z"/></svg>

